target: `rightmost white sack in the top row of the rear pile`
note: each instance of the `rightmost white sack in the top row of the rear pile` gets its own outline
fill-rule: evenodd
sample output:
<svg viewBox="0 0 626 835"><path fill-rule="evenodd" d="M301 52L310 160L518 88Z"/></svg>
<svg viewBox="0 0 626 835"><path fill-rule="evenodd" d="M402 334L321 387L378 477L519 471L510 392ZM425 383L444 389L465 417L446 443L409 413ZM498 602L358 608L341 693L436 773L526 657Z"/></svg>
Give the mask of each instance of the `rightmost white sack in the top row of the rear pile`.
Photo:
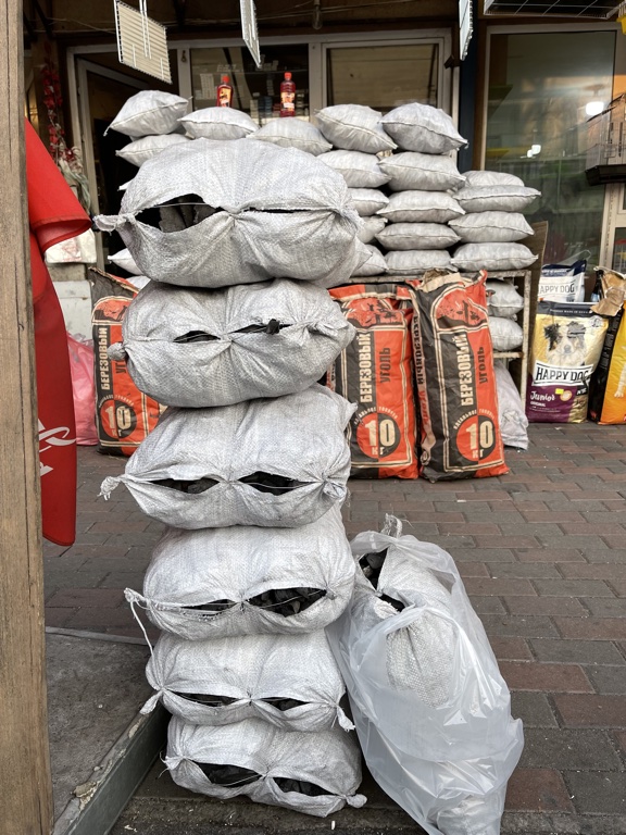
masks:
<svg viewBox="0 0 626 835"><path fill-rule="evenodd" d="M383 127L406 151L448 153L467 145L439 108L411 102L383 116Z"/></svg>

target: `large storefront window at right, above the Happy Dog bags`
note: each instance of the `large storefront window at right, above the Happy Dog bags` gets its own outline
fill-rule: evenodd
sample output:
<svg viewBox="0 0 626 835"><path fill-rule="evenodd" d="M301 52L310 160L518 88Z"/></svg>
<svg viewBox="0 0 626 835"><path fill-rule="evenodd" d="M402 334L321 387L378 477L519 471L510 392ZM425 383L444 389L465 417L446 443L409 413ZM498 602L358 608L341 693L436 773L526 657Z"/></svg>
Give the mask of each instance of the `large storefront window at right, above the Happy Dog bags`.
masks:
<svg viewBox="0 0 626 835"><path fill-rule="evenodd" d="M544 262L597 264L604 186L585 176L586 122L611 100L615 33L493 35L485 167L541 191L527 212L548 221Z"/></svg>

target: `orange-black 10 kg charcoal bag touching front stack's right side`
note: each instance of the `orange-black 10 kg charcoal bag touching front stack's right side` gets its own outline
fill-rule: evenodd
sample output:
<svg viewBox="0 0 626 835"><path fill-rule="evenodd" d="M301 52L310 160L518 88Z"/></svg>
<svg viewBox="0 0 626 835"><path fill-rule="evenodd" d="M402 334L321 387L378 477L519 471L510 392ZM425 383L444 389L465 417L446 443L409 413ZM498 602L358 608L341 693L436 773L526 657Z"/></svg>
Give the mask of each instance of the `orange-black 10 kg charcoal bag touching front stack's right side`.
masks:
<svg viewBox="0 0 626 835"><path fill-rule="evenodd" d="M411 294L400 285L354 284L330 295L356 328L330 375L330 387L356 403L348 427L351 474L416 478Z"/></svg>

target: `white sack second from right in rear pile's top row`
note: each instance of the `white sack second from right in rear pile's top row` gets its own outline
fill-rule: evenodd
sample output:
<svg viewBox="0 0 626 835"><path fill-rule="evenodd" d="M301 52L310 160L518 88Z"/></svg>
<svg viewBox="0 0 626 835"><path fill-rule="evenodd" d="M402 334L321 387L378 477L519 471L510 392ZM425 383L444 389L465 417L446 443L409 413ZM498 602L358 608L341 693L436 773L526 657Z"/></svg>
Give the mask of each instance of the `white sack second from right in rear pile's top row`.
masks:
<svg viewBox="0 0 626 835"><path fill-rule="evenodd" d="M363 104L334 104L315 113L320 129L336 148L379 153L398 146L380 124L383 114Z"/></svg>

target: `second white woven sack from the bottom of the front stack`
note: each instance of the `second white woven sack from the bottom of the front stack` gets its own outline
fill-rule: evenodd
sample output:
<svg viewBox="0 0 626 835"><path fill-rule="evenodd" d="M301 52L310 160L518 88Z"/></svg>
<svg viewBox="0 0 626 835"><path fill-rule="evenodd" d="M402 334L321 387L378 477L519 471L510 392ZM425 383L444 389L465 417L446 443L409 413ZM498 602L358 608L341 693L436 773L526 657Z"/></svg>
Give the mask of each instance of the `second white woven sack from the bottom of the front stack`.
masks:
<svg viewBox="0 0 626 835"><path fill-rule="evenodd" d="M346 687L324 630L214 640L162 633L146 677L155 694L141 713L161 700L193 725L256 718L285 731L328 731L337 723L353 728L339 706ZM285 709L286 700L299 703Z"/></svg>

